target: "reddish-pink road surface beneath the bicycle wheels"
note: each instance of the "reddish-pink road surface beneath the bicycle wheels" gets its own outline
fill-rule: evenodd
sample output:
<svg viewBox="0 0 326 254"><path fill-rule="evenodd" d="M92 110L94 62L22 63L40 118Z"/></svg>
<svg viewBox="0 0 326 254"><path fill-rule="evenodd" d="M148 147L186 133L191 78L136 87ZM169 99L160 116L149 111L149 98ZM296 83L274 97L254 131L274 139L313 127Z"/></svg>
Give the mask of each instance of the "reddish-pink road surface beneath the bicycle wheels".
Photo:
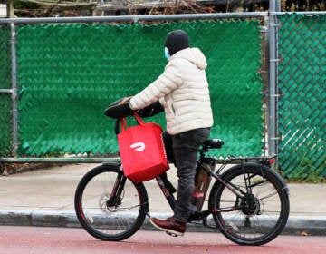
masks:
<svg viewBox="0 0 326 254"><path fill-rule="evenodd" d="M161 231L138 231L127 240L108 242L94 239L82 229L0 226L0 254L323 254L325 249L326 237L279 236L264 246L248 247L214 233L188 232L173 238Z"/></svg>

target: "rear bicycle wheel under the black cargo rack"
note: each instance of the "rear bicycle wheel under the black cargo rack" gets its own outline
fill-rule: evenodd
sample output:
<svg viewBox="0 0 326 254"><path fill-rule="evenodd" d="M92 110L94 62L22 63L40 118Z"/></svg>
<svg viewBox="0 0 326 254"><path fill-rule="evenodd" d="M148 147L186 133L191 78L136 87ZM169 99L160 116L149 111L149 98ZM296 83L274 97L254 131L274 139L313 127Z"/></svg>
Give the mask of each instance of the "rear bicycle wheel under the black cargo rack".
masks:
<svg viewBox="0 0 326 254"><path fill-rule="evenodd" d="M216 226L227 239L256 246L281 234L289 217L290 201L288 188L279 174L267 166L246 163L230 168L221 178L245 193L245 198L240 199L219 181L210 192L210 210L229 209L213 213Z"/></svg>

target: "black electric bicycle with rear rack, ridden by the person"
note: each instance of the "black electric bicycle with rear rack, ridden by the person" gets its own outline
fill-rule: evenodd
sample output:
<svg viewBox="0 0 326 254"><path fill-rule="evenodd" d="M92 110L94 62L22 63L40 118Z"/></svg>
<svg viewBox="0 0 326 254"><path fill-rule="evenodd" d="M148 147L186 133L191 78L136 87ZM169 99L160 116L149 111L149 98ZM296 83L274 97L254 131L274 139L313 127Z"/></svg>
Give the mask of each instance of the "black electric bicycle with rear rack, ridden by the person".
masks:
<svg viewBox="0 0 326 254"><path fill-rule="evenodd" d="M119 120L116 127L119 126ZM289 190L282 177L271 168L274 157L229 157L222 164L207 151L224 142L207 140L199 151L197 176L206 190L195 200L197 210L188 222L220 231L239 245L263 245L283 231L289 217ZM235 163L225 170L226 165ZM203 177L203 173L205 177ZM197 177L197 180L199 178ZM206 193L211 180L206 200ZM176 199L166 181L156 178L171 210ZM205 184L204 184L205 185ZM207 210L202 210L203 202ZM130 181L120 161L103 162L87 172L75 191L74 206L82 228L96 239L119 241L136 233L149 213L149 198L142 182Z"/></svg>

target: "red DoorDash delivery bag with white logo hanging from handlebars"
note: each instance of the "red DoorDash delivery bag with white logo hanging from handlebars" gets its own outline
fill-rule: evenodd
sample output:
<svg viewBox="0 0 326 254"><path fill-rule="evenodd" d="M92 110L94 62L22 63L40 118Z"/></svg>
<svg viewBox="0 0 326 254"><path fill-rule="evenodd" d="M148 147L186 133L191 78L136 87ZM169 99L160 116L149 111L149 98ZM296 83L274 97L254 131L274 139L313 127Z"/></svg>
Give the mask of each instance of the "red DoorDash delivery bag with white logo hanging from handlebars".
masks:
<svg viewBox="0 0 326 254"><path fill-rule="evenodd" d="M123 171L131 181L149 181L168 170L162 128L155 122L143 122L136 113L134 117L139 125L129 127L121 119L118 143Z"/></svg>

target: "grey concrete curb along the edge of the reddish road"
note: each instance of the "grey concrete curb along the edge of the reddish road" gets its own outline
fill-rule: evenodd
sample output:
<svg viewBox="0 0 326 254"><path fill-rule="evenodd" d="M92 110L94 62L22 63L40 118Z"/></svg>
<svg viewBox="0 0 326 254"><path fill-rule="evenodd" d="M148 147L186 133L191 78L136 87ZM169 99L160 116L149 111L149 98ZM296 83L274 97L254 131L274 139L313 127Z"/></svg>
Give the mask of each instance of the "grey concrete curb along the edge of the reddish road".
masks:
<svg viewBox="0 0 326 254"><path fill-rule="evenodd" d="M166 218L168 214L155 213L152 216ZM0 210L0 225L10 226L37 226L37 227L65 227L80 228L74 212L58 211L31 211L31 210ZM156 230L146 218L141 230ZM201 224L187 225L187 231L212 232L214 229L204 228ZM314 236L326 236L326 216L291 216L283 230L284 235L301 235L302 233Z"/></svg>

